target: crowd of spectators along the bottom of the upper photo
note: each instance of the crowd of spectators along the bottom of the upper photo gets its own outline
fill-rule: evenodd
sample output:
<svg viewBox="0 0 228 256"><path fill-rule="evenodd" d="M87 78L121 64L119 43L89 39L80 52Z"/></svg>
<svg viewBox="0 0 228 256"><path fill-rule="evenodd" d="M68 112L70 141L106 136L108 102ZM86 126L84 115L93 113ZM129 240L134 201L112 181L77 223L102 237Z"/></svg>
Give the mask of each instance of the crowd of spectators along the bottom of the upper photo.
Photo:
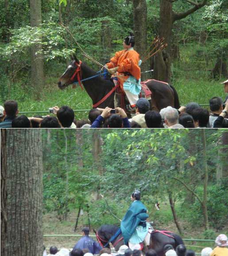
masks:
<svg viewBox="0 0 228 256"><path fill-rule="evenodd" d="M224 81L228 93L228 80ZM209 100L209 110L197 102L174 109L168 106L160 112L151 111L145 98L136 102L134 116L124 109L91 109L88 119L77 120L69 106L54 106L51 115L27 117L20 115L16 101L0 106L0 128L228 128L228 96Z"/></svg>

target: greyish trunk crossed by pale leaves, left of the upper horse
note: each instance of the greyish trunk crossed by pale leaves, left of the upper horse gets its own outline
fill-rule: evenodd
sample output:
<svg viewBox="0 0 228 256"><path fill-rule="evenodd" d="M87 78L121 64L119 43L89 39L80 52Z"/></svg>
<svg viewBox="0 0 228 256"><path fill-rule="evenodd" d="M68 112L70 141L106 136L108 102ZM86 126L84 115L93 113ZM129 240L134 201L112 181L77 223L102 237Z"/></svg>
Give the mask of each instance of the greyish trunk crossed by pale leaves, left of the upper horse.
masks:
<svg viewBox="0 0 228 256"><path fill-rule="evenodd" d="M30 0L30 23L31 27L41 26L41 0ZM31 47L31 84L37 100L41 99L44 84L43 56L37 53L39 50L42 50L39 43Z"/></svg>

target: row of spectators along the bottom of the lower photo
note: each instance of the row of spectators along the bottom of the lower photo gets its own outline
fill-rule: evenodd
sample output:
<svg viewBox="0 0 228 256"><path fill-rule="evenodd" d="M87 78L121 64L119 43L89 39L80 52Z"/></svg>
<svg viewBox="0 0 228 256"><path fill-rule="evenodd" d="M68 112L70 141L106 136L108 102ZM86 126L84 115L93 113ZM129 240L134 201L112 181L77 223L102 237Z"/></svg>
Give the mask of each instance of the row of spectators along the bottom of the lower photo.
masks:
<svg viewBox="0 0 228 256"><path fill-rule="evenodd" d="M131 250L127 245L121 245L119 250L111 251L110 248L101 248L98 242L89 237L89 228L82 229L83 237L74 245L73 249L68 250L62 248L58 251L56 246L50 247L50 254L47 256L158 256L153 249L147 250L144 254L142 250ZM224 234L220 234L215 240L216 247L214 249L206 247L201 251L201 256L227 256L228 255L228 239ZM100 248L99 248L100 247ZM165 256L196 256L193 250L186 248L184 244L179 244L175 249L171 244L163 247ZM44 248L44 254L46 250Z"/></svg>

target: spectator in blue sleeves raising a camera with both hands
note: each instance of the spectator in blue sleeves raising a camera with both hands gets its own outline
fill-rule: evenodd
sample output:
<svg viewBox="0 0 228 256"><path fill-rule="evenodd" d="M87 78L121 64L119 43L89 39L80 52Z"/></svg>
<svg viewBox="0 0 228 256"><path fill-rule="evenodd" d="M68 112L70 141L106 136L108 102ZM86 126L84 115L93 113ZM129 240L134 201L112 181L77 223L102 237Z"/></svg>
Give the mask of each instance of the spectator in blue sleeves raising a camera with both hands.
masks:
<svg viewBox="0 0 228 256"><path fill-rule="evenodd" d="M105 109L99 110L102 110L102 113L97 117L90 128L100 128L102 122L106 118L108 118L108 128L131 128L128 116L124 112L124 109L119 107L116 109L106 107Z"/></svg>

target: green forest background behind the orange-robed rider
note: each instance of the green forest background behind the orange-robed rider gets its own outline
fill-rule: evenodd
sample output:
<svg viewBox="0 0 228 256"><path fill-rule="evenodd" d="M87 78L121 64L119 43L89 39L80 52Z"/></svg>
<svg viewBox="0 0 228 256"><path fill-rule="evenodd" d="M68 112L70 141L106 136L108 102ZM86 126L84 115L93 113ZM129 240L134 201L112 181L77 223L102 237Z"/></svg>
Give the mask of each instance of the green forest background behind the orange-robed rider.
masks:
<svg viewBox="0 0 228 256"><path fill-rule="evenodd" d="M224 98L220 82L228 77L226 0L0 0L1 105L15 99L20 111L54 105L91 108L81 88L58 89L58 78L75 51L94 70L100 69L81 55L59 22L103 64L122 49L129 31L135 31L135 47L141 55L156 35L164 36L169 45L143 64L142 71L155 70L142 74L143 79L170 81L182 105ZM82 116L85 113L77 118Z"/></svg>

